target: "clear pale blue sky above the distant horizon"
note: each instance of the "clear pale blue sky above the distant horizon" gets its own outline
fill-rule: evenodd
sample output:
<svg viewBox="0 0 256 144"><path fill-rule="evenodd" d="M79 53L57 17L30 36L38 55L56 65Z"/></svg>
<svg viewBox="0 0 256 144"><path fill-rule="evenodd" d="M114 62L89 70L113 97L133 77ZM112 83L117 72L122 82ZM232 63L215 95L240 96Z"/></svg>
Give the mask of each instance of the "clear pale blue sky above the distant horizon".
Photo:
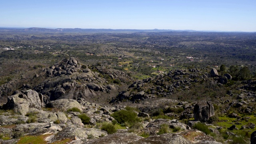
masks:
<svg viewBox="0 0 256 144"><path fill-rule="evenodd" d="M256 0L0 0L0 27L256 32Z"/></svg>

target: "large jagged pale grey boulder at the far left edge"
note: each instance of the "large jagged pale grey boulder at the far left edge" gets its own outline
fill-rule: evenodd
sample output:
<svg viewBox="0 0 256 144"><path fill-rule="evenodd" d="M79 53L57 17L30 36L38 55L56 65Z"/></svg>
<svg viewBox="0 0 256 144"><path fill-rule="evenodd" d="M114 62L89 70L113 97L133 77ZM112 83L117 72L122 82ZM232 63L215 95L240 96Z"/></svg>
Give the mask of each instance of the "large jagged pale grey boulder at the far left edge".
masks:
<svg viewBox="0 0 256 144"><path fill-rule="evenodd" d="M42 94L38 94L34 90L27 90L8 96L8 101L3 108L13 109L14 112L25 115L29 108L41 109L41 106L44 106Z"/></svg>

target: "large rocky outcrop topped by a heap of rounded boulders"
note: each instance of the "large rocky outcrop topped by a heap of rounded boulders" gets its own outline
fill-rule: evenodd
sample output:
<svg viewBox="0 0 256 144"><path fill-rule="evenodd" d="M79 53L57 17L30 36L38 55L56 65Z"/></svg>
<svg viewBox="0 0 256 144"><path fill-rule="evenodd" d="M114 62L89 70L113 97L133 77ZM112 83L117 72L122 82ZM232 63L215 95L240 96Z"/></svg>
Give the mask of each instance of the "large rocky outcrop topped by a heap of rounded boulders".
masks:
<svg viewBox="0 0 256 144"><path fill-rule="evenodd" d="M46 98L44 102L63 98L77 100L78 98L93 98L101 94L114 92L118 90L116 84L109 84L106 78L110 74L121 82L130 81L130 77L120 71L111 70L104 66L92 65L88 68L75 59L70 58L62 60L59 64L54 64L45 68L44 72L47 80L36 86L35 90L42 93Z"/></svg>

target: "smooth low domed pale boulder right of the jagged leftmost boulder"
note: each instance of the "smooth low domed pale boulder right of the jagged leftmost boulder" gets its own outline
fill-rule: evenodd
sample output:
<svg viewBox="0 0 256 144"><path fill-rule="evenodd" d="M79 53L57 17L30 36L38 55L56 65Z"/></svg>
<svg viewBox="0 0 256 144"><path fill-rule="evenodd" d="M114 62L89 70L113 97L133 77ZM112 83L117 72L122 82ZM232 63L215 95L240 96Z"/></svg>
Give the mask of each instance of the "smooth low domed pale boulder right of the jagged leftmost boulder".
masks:
<svg viewBox="0 0 256 144"><path fill-rule="evenodd" d="M82 106L76 101L72 99L59 99L54 100L46 104L46 107L48 108L59 108L64 111L70 109L70 108L78 108L79 110L83 111Z"/></svg>

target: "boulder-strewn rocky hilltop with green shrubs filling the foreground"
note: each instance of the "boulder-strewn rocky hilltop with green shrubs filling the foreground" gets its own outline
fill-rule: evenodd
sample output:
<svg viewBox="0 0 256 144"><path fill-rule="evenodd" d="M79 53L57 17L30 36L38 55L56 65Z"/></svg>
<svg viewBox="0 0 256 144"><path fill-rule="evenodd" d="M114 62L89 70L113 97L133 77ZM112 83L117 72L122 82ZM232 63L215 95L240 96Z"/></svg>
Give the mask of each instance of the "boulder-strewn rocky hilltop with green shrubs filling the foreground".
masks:
<svg viewBox="0 0 256 144"><path fill-rule="evenodd" d="M35 86L1 86L13 94L1 106L0 143L255 143L256 81L235 82L215 68L132 80L69 58L38 78Z"/></svg>

